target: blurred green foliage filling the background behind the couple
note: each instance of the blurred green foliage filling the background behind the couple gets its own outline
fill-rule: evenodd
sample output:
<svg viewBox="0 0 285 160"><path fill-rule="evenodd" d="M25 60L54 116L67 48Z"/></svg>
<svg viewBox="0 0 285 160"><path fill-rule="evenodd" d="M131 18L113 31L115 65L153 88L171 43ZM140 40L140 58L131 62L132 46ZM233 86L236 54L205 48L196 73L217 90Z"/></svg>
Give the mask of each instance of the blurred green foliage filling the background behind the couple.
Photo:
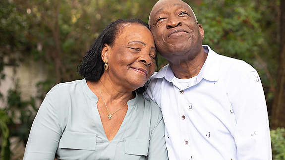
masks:
<svg viewBox="0 0 285 160"><path fill-rule="evenodd" d="M245 60L259 71L270 113L280 46L280 0L184 1L192 6L205 30L203 44L209 45L217 53ZM26 142L37 111L35 100L43 100L57 83L82 78L77 73L77 66L107 24L118 18L140 18L147 22L155 2L0 0L0 82L6 77L3 73L5 66L18 67L20 62L28 60L40 61L43 64L40 67L48 70L48 78L37 84L38 97L22 100L16 83L15 88L8 91L7 97L0 93L0 100L7 102L6 110L3 113L0 111L2 135L5 132L5 136L18 136ZM165 64L167 61L159 56L158 67ZM5 119L6 115L10 121ZM9 134L5 125L12 128ZM284 159L282 153L285 153L284 143L276 140L282 137L281 132L271 132L273 154L277 160ZM2 136L2 139L5 138L7 140ZM1 156L2 152L9 155L9 142L6 141L5 145L2 144Z"/></svg>

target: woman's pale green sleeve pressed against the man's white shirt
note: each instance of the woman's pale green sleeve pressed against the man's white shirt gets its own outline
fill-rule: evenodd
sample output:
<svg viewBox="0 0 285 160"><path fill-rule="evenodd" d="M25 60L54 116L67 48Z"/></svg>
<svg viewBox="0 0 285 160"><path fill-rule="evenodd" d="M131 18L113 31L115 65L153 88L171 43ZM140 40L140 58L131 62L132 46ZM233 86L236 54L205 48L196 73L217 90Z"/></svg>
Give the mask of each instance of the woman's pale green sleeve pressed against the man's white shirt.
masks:
<svg viewBox="0 0 285 160"><path fill-rule="evenodd" d="M157 105L152 107L157 107ZM157 119L157 124L151 133L147 160L168 160L168 152L166 149L164 135L164 120L160 110L159 112L160 114Z"/></svg>

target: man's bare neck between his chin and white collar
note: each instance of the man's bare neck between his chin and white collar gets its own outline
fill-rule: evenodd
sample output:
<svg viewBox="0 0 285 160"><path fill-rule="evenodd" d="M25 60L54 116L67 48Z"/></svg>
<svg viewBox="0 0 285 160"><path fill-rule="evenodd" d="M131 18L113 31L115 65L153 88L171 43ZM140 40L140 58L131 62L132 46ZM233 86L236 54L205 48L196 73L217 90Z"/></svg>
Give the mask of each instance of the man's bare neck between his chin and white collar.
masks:
<svg viewBox="0 0 285 160"><path fill-rule="evenodd" d="M181 58L169 62L175 77L179 79L188 79L199 74L207 56L208 54L204 52L204 48L202 47L201 51L194 57Z"/></svg>

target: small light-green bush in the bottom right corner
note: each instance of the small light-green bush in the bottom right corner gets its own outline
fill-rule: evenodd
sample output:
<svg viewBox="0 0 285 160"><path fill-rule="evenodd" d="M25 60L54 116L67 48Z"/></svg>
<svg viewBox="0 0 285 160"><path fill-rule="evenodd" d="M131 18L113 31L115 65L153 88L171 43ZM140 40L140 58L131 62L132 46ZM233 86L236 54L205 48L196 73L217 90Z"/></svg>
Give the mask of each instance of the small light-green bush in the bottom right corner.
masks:
<svg viewBox="0 0 285 160"><path fill-rule="evenodd" d="M272 159L285 160L285 128L277 128L270 132Z"/></svg>

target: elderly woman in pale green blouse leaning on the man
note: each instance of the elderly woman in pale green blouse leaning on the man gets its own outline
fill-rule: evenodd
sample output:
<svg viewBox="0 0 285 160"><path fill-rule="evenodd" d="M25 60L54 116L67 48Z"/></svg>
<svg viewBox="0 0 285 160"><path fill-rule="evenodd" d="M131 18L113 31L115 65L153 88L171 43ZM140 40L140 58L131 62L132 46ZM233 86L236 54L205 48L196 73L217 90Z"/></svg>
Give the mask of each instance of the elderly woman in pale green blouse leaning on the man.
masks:
<svg viewBox="0 0 285 160"><path fill-rule="evenodd" d="M148 24L116 20L56 85L33 122L24 160L167 160L160 108L141 93L156 68Z"/></svg>

